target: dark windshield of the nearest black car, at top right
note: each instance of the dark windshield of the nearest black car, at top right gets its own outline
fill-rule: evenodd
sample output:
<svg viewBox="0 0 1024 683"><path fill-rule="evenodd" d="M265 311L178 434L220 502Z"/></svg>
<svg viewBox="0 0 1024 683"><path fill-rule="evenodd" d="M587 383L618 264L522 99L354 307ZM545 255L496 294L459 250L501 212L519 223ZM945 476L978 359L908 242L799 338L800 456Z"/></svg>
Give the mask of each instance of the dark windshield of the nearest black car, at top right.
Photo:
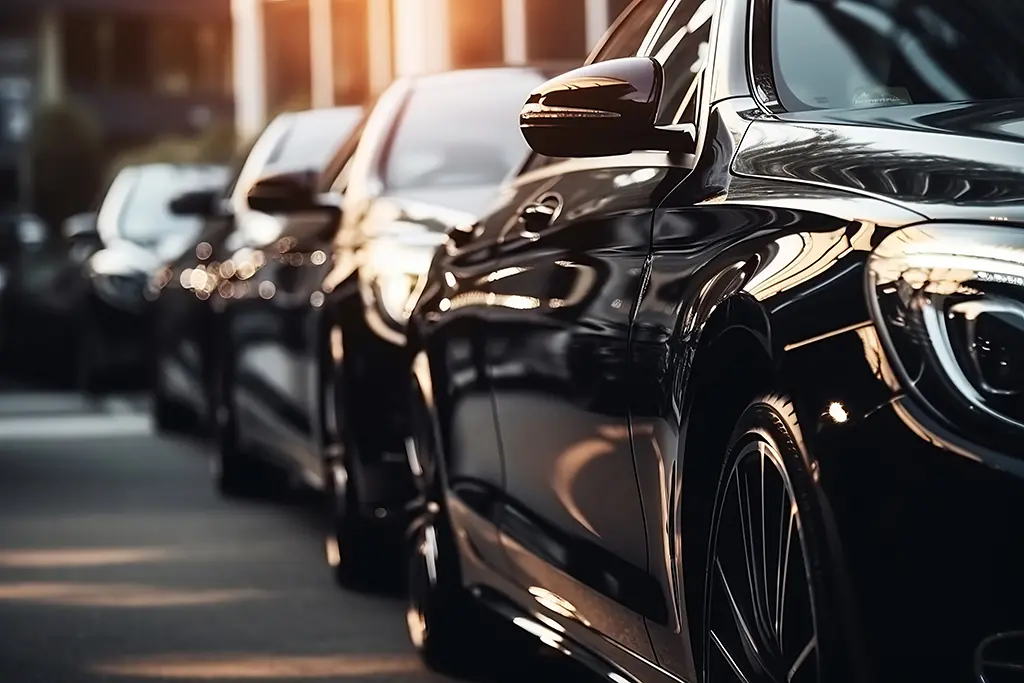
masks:
<svg viewBox="0 0 1024 683"><path fill-rule="evenodd" d="M1022 0L775 0L790 111L1024 97Z"/></svg>

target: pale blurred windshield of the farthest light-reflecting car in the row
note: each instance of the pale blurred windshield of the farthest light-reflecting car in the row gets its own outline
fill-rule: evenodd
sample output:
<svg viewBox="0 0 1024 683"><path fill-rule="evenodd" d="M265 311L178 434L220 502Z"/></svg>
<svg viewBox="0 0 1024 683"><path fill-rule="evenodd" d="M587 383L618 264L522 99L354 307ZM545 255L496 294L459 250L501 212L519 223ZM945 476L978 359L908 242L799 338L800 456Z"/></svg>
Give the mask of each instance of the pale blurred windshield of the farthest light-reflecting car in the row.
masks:
<svg viewBox="0 0 1024 683"><path fill-rule="evenodd" d="M139 245L151 245L168 237L199 234L203 226L196 216L176 216L168 203L181 193L215 188L226 180L226 172L217 167L152 166L137 170L137 176L124 195L119 212L117 234Z"/></svg>

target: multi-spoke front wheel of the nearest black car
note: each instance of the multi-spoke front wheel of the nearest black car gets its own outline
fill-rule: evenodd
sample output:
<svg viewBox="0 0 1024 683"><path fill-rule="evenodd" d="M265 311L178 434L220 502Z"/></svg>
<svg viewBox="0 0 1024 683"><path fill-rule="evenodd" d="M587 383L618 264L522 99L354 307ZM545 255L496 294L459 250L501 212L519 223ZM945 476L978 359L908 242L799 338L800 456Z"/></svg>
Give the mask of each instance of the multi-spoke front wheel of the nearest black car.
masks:
<svg viewBox="0 0 1024 683"><path fill-rule="evenodd" d="M705 573L705 683L849 680L824 514L793 404L743 412L726 451Z"/></svg>

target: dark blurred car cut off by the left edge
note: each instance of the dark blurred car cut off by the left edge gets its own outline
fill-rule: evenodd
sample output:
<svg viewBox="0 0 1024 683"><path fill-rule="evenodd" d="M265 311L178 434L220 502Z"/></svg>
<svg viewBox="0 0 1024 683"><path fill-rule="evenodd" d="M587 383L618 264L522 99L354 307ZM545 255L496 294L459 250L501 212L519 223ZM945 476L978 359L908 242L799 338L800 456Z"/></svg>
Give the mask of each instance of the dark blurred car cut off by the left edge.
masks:
<svg viewBox="0 0 1024 683"><path fill-rule="evenodd" d="M96 214L68 218L59 231L37 216L0 216L0 358L13 375L70 384L85 297L82 265L99 248Z"/></svg>

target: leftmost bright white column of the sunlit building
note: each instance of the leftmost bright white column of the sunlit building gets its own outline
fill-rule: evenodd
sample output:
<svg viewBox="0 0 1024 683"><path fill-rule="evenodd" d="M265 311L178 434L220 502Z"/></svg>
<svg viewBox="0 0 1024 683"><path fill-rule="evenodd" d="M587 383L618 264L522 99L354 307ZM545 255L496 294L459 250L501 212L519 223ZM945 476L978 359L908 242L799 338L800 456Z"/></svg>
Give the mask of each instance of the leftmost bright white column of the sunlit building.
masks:
<svg viewBox="0 0 1024 683"><path fill-rule="evenodd" d="M234 130L240 140L259 135L266 123L266 45L263 0L231 0L234 49Z"/></svg>

